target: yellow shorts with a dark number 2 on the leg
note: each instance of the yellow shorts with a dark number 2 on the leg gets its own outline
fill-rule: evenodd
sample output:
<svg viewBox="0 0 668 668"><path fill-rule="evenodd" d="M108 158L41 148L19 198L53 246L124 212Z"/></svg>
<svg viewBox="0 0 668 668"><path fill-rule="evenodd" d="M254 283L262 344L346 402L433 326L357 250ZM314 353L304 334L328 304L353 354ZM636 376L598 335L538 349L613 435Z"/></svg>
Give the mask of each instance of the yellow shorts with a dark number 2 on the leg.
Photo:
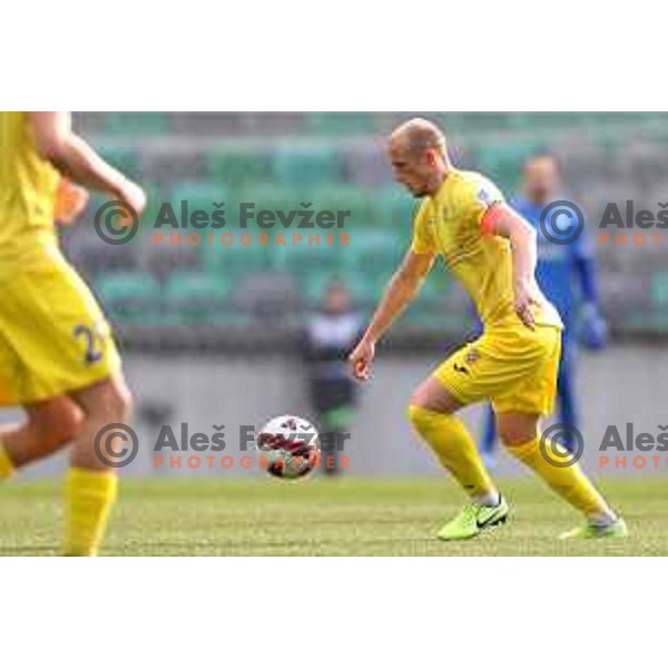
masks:
<svg viewBox="0 0 668 668"><path fill-rule="evenodd" d="M59 253L3 275L0 405L68 394L119 369L101 308Z"/></svg>

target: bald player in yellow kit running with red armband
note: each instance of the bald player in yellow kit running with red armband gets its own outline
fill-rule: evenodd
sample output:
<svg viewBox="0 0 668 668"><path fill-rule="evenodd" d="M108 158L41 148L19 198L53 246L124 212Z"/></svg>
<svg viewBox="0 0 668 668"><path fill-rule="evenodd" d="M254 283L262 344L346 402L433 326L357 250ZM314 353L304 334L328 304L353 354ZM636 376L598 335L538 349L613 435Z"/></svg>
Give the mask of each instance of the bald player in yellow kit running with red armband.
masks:
<svg viewBox="0 0 668 668"><path fill-rule="evenodd" d="M536 283L536 232L490 180L451 165L445 137L432 122L418 118L400 126L390 137L389 157L395 180L424 199L412 246L351 354L354 375L370 377L376 343L415 296L436 256L462 283L484 327L480 338L435 369L409 406L415 430L471 498L439 538L473 538L508 518L505 499L455 415L479 401L491 402L510 452L587 518L561 538L626 537L622 518L580 466L554 465L540 451L540 419L552 410L562 324Z"/></svg>

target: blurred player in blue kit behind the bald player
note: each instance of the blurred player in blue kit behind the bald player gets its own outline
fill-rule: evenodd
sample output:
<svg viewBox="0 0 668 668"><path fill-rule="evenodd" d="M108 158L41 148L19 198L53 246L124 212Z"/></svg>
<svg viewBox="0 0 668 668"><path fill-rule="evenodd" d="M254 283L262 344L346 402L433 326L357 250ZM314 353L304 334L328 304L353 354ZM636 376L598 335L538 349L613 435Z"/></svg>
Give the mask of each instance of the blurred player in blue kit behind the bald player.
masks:
<svg viewBox="0 0 668 668"><path fill-rule="evenodd" d="M536 228L536 278L563 322L561 361L557 379L560 422L579 429L577 397L573 391L576 340L589 350L601 350L606 344L606 322L601 316L593 255L587 243L586 227L582 234L569 244L553 244L542 233L540 217L544 208L552 202L568 200L561 194L561 174L553 156L538 155L527 160L522 189L523 195L513 197L510 205ZM579 283L579 295L573 291L573 278ZM488 465L493 463L495 441L494 414L488 406L481 443L483 459ZM563 445L573 450L570 431L564 435Z"/></svg>

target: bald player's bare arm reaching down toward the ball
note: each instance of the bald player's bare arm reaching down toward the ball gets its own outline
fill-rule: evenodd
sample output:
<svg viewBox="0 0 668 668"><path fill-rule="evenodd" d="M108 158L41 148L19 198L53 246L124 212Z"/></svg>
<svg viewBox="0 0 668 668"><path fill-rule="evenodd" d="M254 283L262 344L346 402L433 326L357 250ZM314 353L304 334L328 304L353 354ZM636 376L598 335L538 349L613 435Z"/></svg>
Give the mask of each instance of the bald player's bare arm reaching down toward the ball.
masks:
<svg viewBox="0 0 668 668"><path fill-rule="evenodd" d="M434 263L434 257L433 253L415 253L413 248L406 253L399 269L392 276L366 332L348 357L353 375L357 380L369 379L375 344L419 293L422 282Z"/></svg>

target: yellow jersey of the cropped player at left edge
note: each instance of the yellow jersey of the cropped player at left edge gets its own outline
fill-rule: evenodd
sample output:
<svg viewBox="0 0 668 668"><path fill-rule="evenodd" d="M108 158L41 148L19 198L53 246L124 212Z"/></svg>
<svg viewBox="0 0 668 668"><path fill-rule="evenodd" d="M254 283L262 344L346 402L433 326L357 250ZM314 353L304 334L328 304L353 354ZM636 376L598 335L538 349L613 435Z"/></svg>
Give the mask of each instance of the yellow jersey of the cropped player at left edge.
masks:
<svg viewBox="0 0 668 668"><path fill-rule="evenodd" d="M57 246L60 175L37 153L26 111L0 111L0 272L10 272Z"/></svg>

